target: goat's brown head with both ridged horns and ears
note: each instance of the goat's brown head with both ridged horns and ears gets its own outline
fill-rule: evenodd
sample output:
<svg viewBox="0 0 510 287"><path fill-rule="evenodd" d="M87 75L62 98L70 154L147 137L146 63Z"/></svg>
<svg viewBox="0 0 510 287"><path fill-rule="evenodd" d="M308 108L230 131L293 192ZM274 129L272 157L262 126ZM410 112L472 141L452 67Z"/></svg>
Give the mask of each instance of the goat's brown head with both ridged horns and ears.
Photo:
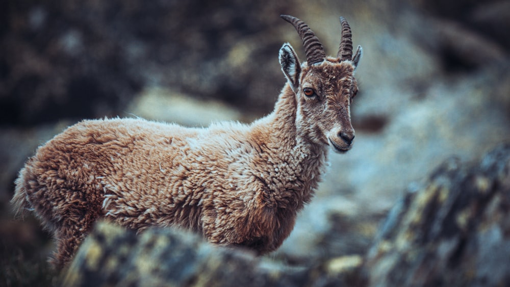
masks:
<svg viewBox="0 0 510 287"><path fill-rule="evenodd" d="M340 17L342 38L336 58L326 57L321 42L303 21L288 15L281 17L294 25L307 55L307 62L301 65L288 43L279 53L282 70L297 97L296 124L310 140L345 152L354 139L350 104L358 92L353 74L362 48L358 46L352 57L351 31L343 17Z"/></svg>

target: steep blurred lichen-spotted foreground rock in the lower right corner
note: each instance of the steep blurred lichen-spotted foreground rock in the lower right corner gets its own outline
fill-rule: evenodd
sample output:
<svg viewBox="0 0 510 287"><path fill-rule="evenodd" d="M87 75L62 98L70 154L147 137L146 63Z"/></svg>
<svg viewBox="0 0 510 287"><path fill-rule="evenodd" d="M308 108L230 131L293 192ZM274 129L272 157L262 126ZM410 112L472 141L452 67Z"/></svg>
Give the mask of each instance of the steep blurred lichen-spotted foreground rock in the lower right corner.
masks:
<svg viewBox="0 0 510 287"><path fill-rule="evenodd" d="M373 286L503 286L510 281L510 145L474 166L450 159L411 188L364 265Z"/></svg>

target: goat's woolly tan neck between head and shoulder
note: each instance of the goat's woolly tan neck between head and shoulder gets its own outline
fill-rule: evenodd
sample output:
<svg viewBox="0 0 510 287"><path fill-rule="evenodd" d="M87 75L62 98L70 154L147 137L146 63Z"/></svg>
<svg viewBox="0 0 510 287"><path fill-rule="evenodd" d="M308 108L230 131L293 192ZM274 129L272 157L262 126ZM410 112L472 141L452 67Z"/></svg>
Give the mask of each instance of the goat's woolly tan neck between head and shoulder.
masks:
<svg viewBox="0 0 510 287"><path fill-rule="evenodd" d="M279 168L279 174L275 173L274 177L293 190L297 200L292 200L293 204L300 208L304 202L310 201L317 188L326 162L327 146L314 143L298 128L297 113L296 95L287 84L274 111L254 123L252 139L268 156L267 161L290 167Z"/></svg>

